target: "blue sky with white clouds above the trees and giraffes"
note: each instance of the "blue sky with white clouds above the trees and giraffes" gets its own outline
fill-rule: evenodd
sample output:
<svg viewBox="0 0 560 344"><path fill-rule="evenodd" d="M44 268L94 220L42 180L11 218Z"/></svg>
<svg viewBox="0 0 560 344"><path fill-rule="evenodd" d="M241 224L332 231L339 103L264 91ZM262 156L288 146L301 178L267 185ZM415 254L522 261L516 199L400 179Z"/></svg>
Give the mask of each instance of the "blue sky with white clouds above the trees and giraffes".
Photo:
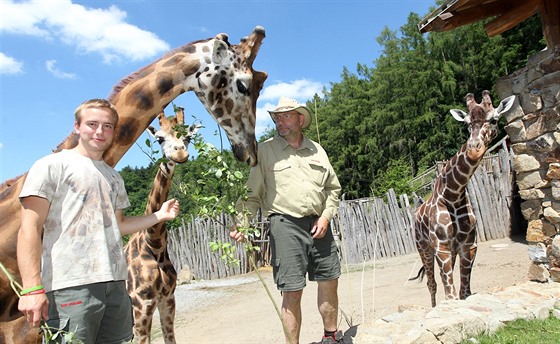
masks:
<svg viewBox="0 0 560 344"><path fill-rule="evenodd" d="M257 103L259 137L280 96L305 102L339 82L344 67L373 66L383 28L398 30L411 12L423 17L431 7L435 0L0 0L0 182L62 142L82 101L106 98L120 79L175 47L221 32L237 44L265 28L253 64L269 75ZM174 103L220 146L217 125L192 93ZM116 169L148 163L135 145Z"/></svg>

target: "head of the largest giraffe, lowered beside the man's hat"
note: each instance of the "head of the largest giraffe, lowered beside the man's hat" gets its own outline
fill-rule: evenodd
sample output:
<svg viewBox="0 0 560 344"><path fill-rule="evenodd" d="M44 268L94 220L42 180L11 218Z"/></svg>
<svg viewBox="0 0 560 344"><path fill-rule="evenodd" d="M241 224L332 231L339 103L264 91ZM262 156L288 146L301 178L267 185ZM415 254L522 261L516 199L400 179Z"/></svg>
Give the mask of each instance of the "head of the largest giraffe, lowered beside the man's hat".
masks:
<svg viewBox="0 0 560 344"><path fill-rule="evenodd" d="M238 45L230 45L224 33L202 44L202 52L211 54L201 61L202 72L195 89L199 100L226 132L235 157L251 166L257 163L257 98L267 78L252 65L264 36L264 29L257 26Z"/></svg>

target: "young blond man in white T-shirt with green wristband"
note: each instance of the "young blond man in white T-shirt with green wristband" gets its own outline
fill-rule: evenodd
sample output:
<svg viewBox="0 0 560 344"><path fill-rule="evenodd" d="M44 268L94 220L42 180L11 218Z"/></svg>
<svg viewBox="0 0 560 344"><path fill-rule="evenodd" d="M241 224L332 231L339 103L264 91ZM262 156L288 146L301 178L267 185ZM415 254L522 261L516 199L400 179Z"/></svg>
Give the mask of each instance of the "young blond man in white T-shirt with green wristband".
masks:
<svg viewBox="0 0 560 344"><path fill-rule="evenodd" d="M117 120L104 99L82 103L74 122L78 145L35 162L20 193L19 310L33 326L47 320L86 344L132 339L121 236L179 212L169 200L154 214L123 216L130 205L124 182L102 159Z"/></svg>

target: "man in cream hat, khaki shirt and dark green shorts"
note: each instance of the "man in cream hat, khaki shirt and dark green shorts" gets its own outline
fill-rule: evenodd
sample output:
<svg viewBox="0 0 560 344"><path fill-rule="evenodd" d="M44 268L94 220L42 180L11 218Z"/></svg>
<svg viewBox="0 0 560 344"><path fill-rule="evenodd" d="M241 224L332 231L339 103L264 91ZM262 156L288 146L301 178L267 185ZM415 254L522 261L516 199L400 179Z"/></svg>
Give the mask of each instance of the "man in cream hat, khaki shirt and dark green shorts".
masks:
<svg viewBox="0 0 560 344"><path fill-rule="evenodd" d="M286 342L299 342L301 297L309 280L317 281L318 308L323 318L321 343L342 343L337 329L340 262L329 223L338 209L340 183L324 149L303 136L311 123L304 105L282 97L269 111L278 135L259 145L257 166L251 169L241 214L261 208L270 219L274 280L282 292L282 319ZM247 225L247 218L237 226ZM230 236L243 241L232 228Z"/></svg>

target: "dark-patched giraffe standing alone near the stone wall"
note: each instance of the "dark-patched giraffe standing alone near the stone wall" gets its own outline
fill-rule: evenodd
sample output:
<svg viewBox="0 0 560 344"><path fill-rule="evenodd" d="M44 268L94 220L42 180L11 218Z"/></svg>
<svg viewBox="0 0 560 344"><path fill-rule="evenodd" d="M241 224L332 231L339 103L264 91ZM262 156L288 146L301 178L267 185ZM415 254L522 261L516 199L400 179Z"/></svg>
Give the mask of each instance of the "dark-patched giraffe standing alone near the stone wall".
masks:
<svg viewBox="0 0 560 344"><path fill-rule="evenodd" d="M469 179L482 161L488 144L497 134L500 115L508 111L515 96L492 106L490 92L482 93L482 103L475 102L472 93L466 97L469 113L451 110L453 117L468 125L470 136L459 152L445 164L438 175L432 195L416 210L416 247L422 258L422 268L413 279L427 274L427 284L436 305L437 284L434 278L434 258L439 267L446 299L457 299L453 284L455 258L459 255L461 288L459 296L471 295L470 277L476 256L476 219L466 188Z"/></svg>

